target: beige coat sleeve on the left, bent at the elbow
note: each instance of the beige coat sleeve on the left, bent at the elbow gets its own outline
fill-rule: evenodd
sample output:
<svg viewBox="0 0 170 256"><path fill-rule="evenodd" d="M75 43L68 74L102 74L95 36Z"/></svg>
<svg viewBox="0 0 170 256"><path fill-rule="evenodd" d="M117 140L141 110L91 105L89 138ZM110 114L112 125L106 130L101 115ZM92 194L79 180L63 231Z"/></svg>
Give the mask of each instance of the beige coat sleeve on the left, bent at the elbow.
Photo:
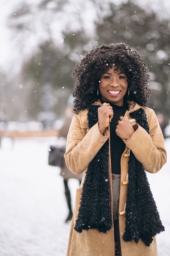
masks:
<svg viewBox="0 0 170 256"><path fill-rule="evenodd" d="M87 128L87 117L82 118L82 113L73 116L67 135L66 153L64 154L66 166L74 174L82 173L99 149L109 138L109 132L102 135L98 123L90 130ZM82 122L85 119L85 122Z"/></svg>

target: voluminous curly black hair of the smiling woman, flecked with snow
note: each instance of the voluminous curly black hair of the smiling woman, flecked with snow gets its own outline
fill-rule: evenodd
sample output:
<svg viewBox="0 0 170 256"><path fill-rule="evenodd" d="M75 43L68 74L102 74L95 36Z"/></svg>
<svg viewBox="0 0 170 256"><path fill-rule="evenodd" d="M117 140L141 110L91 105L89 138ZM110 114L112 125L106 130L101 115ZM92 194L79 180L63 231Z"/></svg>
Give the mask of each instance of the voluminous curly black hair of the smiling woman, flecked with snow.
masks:
<svg viewBox="0 0 170 256"><path fill-rule="evenodd" d="M124 105L128 107L128 101L134 101L141 106L148 106L148 67L138 52L125 43L115 43L92 49L77 63L73 72L73 77L76 78L73 91L75 114L99 99L99 80L113 64L127 76L129 95L125 94Z"/></svg>

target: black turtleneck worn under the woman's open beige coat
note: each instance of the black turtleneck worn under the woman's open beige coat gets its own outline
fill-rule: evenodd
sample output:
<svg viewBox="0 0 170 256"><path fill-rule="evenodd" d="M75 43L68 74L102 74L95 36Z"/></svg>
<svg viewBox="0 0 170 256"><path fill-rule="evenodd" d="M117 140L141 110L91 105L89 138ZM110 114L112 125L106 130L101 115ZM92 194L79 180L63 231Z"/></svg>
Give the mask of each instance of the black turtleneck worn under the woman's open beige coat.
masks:
<svg viewBox="0 0 170 256"><path fill-rule="evenodd" d="M113 119L110 122L110 156L112 163L112 173L120 174L120 159L125 150L124 141L116 135L117 121L120 116L124 116L127 108L125 106L119 107L110 103L113 107Z"/></svg>

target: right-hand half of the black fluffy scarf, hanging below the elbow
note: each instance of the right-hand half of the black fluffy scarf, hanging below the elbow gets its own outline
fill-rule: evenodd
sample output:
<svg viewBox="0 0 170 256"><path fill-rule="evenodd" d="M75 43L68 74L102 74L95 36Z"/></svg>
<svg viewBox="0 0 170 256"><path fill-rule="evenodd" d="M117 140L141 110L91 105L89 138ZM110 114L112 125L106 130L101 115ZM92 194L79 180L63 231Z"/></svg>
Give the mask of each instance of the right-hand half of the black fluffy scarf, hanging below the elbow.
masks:
<svg viewBox="0 0 170 256"><path fill-rule="evenodd" d="M147 117L142 108L130 115L149 133ZM141 238L147 246L150 246L153 236L164 231L165 228L161 223L144 167L132 151L128 162L128 175L126 227L123 239L126 242L134 239L138 243Z"/></svg>

